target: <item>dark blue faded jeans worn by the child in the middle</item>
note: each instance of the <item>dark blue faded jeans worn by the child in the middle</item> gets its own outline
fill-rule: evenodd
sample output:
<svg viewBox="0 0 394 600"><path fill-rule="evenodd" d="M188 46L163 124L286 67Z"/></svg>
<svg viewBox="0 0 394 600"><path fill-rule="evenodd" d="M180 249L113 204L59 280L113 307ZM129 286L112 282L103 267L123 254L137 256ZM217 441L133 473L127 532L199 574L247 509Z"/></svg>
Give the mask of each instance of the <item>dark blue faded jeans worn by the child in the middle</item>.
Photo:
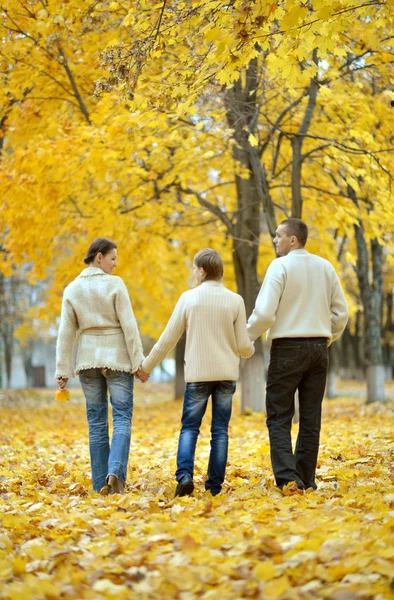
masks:
<svg viewBox="0 0 394 600"><path fill-rule="evenodd" d="M235 381L204 381L186 384L182 429L178 444L177 481L186 474L193 477L197 438L202 418L207 409L208 398L212 395L211 452L205 489L215 493L220 492L226 472L228 424L235 387Z"/></svg>

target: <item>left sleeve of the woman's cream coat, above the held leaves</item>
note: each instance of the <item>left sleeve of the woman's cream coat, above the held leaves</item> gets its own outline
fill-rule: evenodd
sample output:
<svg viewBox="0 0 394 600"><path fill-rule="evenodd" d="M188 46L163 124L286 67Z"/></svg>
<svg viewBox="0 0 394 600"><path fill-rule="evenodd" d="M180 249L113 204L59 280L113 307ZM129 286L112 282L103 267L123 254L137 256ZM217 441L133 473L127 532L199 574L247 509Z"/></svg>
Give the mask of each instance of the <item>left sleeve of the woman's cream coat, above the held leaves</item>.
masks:
<svg viewBox="0 0 394 600"><path fill-rule="evenodd" d="M56 377L69 379L74 377L73 368L73 346L79 325L77 315L68 298L64 293L60 326L56 342Z"/></svg>

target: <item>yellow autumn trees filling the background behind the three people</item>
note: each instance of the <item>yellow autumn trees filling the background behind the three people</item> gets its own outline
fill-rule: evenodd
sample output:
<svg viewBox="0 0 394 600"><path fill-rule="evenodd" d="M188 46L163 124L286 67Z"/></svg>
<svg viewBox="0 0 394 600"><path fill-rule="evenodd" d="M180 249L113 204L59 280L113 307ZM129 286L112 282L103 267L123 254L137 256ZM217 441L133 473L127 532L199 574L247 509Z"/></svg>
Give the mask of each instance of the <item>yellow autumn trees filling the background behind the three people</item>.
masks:
<svg viewBox="0 0 394 600"><path fill-rule="evenodd" d="M341 6L4 3L3 272L29 262L31 281L50 277L55 316L85 246L105 231L155 337L195 251L223 253L250 314L277 224L303 218L308 249L334 264L351 308L332 372L362 373L368 400L383 400L393 20L386 3ZM261 409L261 341L242 381L244 408Z"/></svg>

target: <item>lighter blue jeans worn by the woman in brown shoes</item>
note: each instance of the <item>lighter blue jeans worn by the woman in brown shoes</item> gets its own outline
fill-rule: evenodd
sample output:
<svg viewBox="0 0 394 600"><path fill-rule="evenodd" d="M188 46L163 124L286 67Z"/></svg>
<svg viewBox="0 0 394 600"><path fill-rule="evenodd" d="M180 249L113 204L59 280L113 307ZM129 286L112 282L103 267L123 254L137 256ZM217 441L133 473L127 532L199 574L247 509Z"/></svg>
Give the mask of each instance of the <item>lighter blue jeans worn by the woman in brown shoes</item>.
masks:
<svg viewBox="0 0 394 600"><path fill-rule="evenodd" d="M106 485L109 475L126 482L134 376L111 369L86 369L80 371L79 380L86 398L93 489L99 492ZM113 417L111 446L108 436L108 390Z"/></svg>

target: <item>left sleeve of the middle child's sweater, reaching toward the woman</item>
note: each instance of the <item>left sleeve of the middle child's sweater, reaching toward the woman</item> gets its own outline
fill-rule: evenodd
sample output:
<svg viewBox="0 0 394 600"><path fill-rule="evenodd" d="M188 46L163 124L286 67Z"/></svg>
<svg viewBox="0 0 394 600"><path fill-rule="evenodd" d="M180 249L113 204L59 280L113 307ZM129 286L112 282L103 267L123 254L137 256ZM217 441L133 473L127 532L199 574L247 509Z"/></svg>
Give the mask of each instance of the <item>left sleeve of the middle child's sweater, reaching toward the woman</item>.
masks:
<svg viewBox="0 0 394 600"><path fill-rule="evenodd" d="M153 346L149 356L142 363L142 369L146 373L151 373L153 369L165 358L172 350L186 329L186 313L184 295L179 298L174 312L158 342Z"/></svg>

